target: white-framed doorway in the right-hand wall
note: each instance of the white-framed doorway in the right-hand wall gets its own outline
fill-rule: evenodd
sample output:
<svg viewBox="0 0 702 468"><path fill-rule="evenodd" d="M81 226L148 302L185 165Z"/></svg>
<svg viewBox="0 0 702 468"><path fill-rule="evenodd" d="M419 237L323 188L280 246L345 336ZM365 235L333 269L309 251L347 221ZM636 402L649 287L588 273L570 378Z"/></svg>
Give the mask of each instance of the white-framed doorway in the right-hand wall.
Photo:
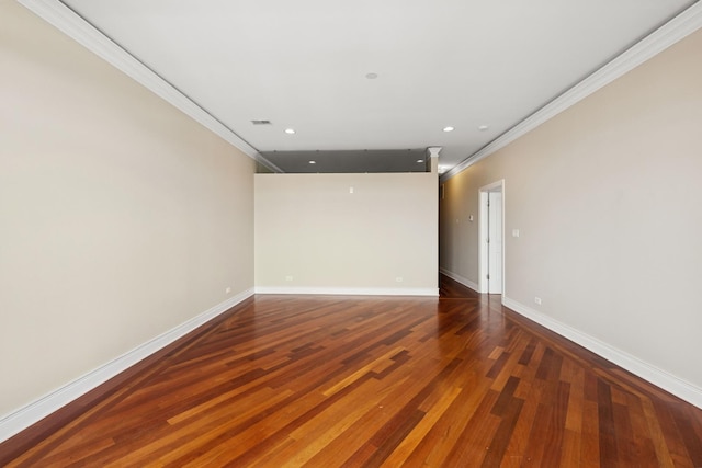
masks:
<svg viewBox="0 0 702 468"><path fill-rule="evenodd" d="M505 180L479 189L479 292L505 289Z"/></svg>

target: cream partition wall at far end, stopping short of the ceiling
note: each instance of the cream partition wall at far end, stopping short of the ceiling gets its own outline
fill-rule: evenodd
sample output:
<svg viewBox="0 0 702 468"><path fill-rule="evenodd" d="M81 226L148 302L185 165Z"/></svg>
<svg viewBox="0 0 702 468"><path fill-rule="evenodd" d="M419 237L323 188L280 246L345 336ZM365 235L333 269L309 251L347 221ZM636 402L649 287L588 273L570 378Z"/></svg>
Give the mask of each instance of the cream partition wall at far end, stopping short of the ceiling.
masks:
<svg viewBox="0 0 702 468"><path fill-rule="evenodd" d="M437 186L431 173L257 174L257 290L435 295Z"/></svg>

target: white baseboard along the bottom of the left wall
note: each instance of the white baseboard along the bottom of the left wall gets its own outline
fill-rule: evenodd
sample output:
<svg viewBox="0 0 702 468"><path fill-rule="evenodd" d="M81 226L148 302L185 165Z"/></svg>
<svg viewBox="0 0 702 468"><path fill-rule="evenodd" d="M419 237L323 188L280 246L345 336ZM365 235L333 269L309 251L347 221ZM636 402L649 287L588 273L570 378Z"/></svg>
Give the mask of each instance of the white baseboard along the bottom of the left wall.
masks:
<svg viewBox="0 0 702 468"><path fill-rule="evenodd" d="M32 424L46 418L56 410L65 407L75 399L81 397L101 384L104 384L117 374L126 370L139 361L150 356L162 347L169 345L181 336L186 335L197 327L214 319L218 315L253 295L253 288L247 289L230 297L210 310L194 317L186 322L156 336L155 339L135 347L122 356L98 367L97 369L66 384L48 395L20 408L0 419L0 442L5 441Z"/></svg>

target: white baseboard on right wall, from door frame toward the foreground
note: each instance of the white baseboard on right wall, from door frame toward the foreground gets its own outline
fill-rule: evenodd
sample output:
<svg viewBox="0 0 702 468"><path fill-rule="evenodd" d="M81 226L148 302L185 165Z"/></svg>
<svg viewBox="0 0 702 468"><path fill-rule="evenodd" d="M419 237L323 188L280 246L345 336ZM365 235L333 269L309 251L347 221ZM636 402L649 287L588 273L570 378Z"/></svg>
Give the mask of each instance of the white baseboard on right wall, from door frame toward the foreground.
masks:
<svg viewBox="0 0 702 468"><path fill-rule="evenodd" d="M618 350L589 334L582 333L565 323L552 319L523 304L502 296L502 305L517 313L558 333L562 336L579 344L580 346L604 357L630 373L647 380L664 390L686 400L702 409L702 388L699 388L681 378L668 374L629 353Z"/></svg>

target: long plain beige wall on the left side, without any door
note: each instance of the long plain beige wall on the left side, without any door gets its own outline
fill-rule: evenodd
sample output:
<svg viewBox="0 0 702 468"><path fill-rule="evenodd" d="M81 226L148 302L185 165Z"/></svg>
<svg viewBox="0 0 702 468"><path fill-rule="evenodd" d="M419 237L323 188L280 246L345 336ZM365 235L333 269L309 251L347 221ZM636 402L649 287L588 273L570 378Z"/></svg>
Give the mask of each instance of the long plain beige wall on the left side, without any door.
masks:
<svg viewBox="0 0 702 468"><path fill-rule="evenodd" d="M1 416L252 288L254 163L7 0L0 103Z"/></svg>

